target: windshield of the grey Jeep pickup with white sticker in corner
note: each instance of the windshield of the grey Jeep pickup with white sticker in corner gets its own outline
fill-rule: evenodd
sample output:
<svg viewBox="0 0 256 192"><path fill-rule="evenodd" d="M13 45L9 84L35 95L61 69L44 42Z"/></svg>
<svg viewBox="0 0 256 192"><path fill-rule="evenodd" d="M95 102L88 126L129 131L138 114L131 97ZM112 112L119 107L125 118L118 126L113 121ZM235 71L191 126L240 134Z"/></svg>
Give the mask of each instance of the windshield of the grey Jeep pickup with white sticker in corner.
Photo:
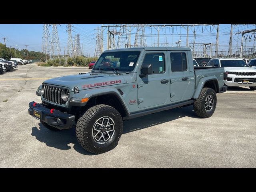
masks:
<svg viewBox="0 0 256 192"><path fill-rule="evenodd" d="M118 51L103 53L94 64L95 70L112 71L115 68L119 71L132 71L139 58L140 51Z"/></svg>

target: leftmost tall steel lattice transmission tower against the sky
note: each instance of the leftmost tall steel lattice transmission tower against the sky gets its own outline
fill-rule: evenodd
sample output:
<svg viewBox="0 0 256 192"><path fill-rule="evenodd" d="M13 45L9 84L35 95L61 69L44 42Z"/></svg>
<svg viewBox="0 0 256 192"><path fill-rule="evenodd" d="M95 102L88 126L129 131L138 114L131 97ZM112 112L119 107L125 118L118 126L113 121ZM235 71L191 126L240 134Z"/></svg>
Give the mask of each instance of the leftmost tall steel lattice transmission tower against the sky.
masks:
<svg viewBox="0 0 256 192"><path fill-rule="evenodd" d="M49 32L50 24L44 24L43 26L43 36L42 36L42 52L44 53L42 57L41 53L41 62L47 62L47 55L50 54L50 32Z"/></svg>

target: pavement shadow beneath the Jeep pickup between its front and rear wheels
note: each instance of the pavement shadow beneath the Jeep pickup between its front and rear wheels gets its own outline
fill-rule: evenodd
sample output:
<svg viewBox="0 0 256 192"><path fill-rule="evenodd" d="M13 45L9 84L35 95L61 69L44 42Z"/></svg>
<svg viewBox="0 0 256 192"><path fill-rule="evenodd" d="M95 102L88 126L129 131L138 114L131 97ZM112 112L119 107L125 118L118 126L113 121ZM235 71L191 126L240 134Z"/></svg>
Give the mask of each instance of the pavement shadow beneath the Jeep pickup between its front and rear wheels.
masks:
<svg viewBox="0 0 256 192"><path fill-rule="evenodd" d="M134 118L132 120L124 121L123 134L159 125L186 116L192 118L200 118L196 116L196 114L194 113L193 106L188 106L184 108L174 108L158 112L155 114L149 114L146 116Z"/></svg>

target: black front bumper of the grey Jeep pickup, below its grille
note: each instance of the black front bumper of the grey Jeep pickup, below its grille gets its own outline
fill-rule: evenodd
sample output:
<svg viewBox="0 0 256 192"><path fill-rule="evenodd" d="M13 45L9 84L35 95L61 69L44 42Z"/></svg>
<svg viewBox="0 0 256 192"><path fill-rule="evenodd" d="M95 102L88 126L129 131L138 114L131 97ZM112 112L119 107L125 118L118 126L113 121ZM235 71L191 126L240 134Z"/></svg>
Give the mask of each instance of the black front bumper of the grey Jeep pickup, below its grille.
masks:
<svg viewBox="0 0 256 192"><path fill-rule="evenodd" d="M46 124L56 127L60 130L66 130L72 128L75 122L75 116L63 113L60 110L53 110L51 113L51 109L46 108L42 104L34 104L35 102L29 103L28 114L33 116L34 118L45 122ZM36 111L39 116L34 115L34 111Z"/></svg>

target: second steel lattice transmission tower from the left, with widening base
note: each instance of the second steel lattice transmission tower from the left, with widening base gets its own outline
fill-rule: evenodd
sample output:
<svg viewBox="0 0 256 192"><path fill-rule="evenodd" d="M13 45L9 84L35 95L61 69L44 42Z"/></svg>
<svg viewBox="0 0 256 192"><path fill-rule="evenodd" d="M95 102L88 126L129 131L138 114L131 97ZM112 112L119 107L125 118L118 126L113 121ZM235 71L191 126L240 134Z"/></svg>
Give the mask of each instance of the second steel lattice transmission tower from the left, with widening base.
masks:
<svg viewBox="0 0 256 192"><path fill-rule="evenodd" d="M60 56L60 41L58 36L57 24L52 24L52 38L51 38L51 54L50 58Z"/></svg>

